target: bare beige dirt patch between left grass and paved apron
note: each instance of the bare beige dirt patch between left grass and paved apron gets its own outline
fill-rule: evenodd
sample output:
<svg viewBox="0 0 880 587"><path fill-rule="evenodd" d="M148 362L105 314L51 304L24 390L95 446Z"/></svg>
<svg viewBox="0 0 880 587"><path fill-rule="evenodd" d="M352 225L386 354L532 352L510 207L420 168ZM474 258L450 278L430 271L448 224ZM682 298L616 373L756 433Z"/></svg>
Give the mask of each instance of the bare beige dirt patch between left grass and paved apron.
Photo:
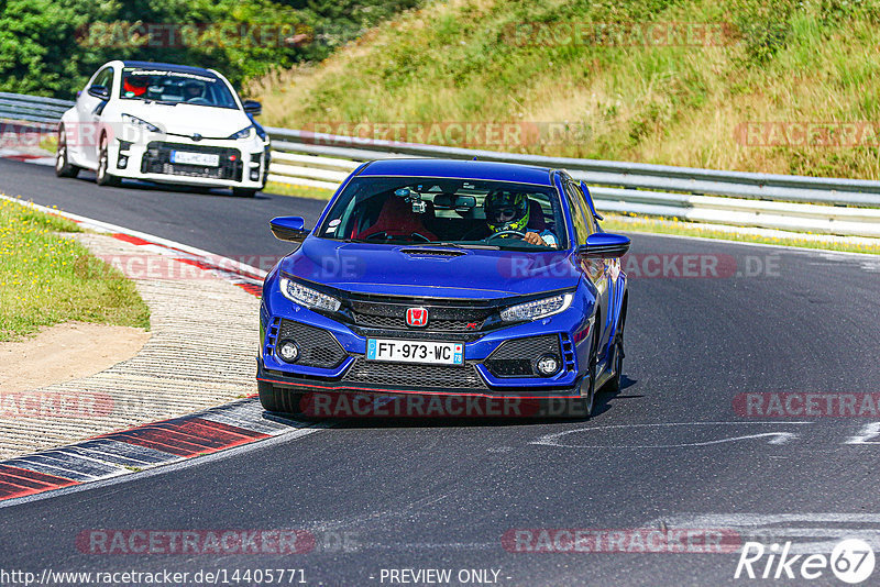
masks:
<svg viewBox="0 0 880 587"><path fill-rule="evenodd" d="M0 390L26 391L88 377L133 357L150 333L130 326L66 322L24 341L0 343Z"/></svg>

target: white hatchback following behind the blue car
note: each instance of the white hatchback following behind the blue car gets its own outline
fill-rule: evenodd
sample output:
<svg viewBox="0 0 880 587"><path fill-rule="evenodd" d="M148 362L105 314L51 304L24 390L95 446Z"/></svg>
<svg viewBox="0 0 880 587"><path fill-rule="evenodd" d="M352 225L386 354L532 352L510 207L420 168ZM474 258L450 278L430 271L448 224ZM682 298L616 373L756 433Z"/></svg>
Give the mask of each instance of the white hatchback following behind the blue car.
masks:
<svg viewBox="0 0 880 587"><path fill-rule="evenodd" d="M120 178L230 187L252 197L266 184L270 141L212 69L146 62L103 65L58 125L55 173L92 169L98 185Z"/></svg>

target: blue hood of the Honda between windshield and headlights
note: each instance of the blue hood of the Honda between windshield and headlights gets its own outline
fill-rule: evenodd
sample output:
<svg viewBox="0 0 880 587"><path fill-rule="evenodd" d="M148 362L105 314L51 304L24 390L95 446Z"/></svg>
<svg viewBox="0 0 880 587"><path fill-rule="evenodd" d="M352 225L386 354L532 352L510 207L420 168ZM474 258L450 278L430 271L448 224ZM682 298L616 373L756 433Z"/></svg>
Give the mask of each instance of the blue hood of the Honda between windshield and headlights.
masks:
<svg viewBox="0 0 880 587"><path fill-rule="evenodd" d="M447 252L451 255L426 254ZM571 253L341 243L308 237L282 261L294 277L360 294L505 298L573 288Z"/></svg>

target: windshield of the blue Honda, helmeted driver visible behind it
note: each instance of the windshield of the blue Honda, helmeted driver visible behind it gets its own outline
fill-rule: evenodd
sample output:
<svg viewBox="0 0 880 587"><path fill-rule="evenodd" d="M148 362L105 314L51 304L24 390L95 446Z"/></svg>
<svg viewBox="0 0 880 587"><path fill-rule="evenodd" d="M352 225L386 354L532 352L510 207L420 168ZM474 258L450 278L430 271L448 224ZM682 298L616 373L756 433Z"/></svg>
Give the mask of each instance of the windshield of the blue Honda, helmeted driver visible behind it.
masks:
<svg viewBox="0 0 880 587"><path fill-rule="evenodd" d="M549 186L355 177L333 203L318 235L395 245L547 251L568 247L565 225L559 195Z"/></svg>

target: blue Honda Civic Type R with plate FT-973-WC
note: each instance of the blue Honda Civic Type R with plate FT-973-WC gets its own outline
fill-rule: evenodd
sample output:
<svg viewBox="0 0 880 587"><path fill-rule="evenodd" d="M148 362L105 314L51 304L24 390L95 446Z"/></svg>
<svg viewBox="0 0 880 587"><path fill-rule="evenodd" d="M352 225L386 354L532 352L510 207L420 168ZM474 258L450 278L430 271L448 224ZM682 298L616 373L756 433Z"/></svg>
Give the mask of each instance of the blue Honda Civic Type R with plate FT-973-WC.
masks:
<svg viewBox="0 0 880 587"><path fill-rule="evenodd" d="M548 400L593 410L624 358L626 236L564 170L479 160L365 163L263 285L260 400L306 394Z"/></svg>

